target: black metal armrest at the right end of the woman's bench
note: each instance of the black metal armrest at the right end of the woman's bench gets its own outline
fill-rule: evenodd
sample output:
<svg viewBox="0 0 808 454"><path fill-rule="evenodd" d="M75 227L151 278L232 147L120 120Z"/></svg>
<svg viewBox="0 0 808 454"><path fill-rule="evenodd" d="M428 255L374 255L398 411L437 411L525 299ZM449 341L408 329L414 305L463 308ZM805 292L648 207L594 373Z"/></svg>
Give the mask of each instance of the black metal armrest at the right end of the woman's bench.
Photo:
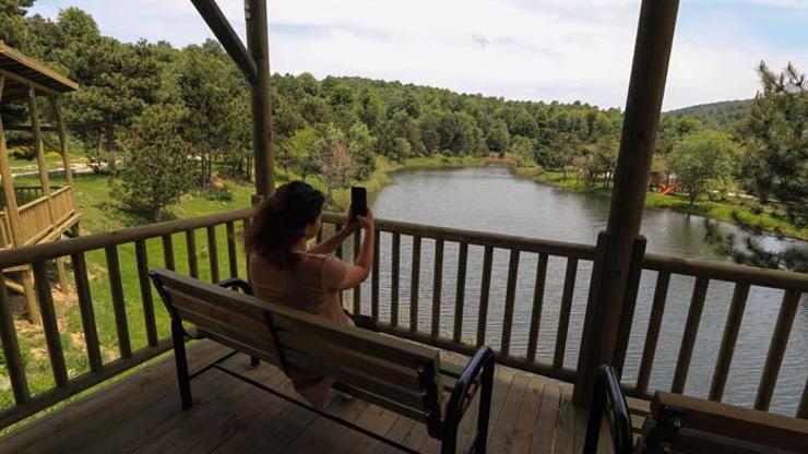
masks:
<svg viewBox="0 0 808 454"><path fill-rule="evenodd" d="M488 437L488 416L491 408L491 393L494 390L494 350L490 347L479 347L468 361L460 379L454 384L452 395L447 405L445 419L443 421L443 446L447 452L454 452L456 443L458 427L463 418L468 403L474 398L477 390L480 390L479 414L477 419L477 435L473 446L485 446ZM479 386L473 384L479 381Z"/></svg>

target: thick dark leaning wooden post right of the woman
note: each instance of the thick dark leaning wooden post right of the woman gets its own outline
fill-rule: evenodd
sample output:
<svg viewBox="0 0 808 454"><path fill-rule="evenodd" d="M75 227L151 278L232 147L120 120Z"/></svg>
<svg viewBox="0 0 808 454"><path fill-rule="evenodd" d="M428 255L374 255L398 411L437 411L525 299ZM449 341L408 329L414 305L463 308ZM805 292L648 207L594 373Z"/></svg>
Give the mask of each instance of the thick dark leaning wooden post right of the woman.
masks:
<svg viewBox="0 0 808 454"><path fill-rule="evenodd" d="M606 227L605 253L596 298L586 308L573 402L587 406L599 365L615 359L632 249L640 232L649 170L665 93L678 0L643 0L634 43L620 154ZM593 275L593 279L596 278ZM590 313L591 312L591 313Z"/></svg>

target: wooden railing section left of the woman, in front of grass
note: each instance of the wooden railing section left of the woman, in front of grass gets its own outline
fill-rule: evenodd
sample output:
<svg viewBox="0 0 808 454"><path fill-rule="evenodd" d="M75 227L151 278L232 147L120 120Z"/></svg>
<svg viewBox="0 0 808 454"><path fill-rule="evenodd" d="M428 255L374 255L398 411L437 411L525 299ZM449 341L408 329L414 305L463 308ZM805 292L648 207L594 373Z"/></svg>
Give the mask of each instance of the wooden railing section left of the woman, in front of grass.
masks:
<svg viewBox="0 0 808 454"><path fill-rule="evenodd" d="M124 230L99 234L87 237L74 238L51 243L36 244L25 248L17 248L0 252L0 270L11 268L19 265L29 264L34 270L34 280L36 294L41 311L41 334L45 338L48 362L52 375L54 386L47 390L32 390L29 386L26 363L20 349L20 338L12 319L9 306L9 294L3 279L0 279L0 343L4 355L4 367L0 370L4 372L11 382L11 390L14 397L14 406L0 411L0 428L7 427L15 421L26 418L37 411L63 401L79 392L82 392L97 383L100 383L122 371L169 349L170 344L167 340L167 332L158 332L159 320L155 315L154 301L151 283L147 272L152 266L164 266L175 268L175 247L174 238L178 235L185 237L185 252L187 254L187 271L192 276L199 276L199 259L207 255L210 272L209 276L213 280L221 277L218 270L219 252L217 248L216 230L217 226L224 225L224 240L227 244L227 258L223 261L227 264L227 271L231 276L239 274L237 251L240 249L236 243L236 223L246 222L249 210L223 213L214 216L206 216L186 220L176 220L170 223L155 224L143 227L129 228ZM197 230L203 229L207 235L206 253L200 253L197 250ZM152 240L152 241L150 241ZM154 244L159 241L162 244ZM163 250L163 260L155 261L150 256L151 250ZM162 248L154 248L162 246ZM99 295L91 291L93 288L92 273L99 273L98 268L88 268L88 256L99 259L97 254L103 254L100 266L100 278L103 284L108 284L108 288L103 286L106 295ZM122 263L120 254L127 256L133 255L134 272L132 276L124 276L123 267L131 267L133 264ZM152 252L154 254L155 252ZM74 365L66 361L66 353L60 335L60 326L57 318L57 308L51 295L51 283L48 278L48 266L57 258L67 258L72 263L75 294L78 299L78 310L81 315L82 336L85 345L85 357L88 370L75 373L71 372ZM134 300L140 300L140 311L143 314L143 328L145 331L145 346L133 348L132 321L128 319L128 311L136 309L129 306L132 303L132 295L129 295L126 288L129 288L130 282L126 278L138 279L139 295ZM98 328L99 312L112 312L115 330L115 348L117 358L105 359L103 353L109 349L102 348L102 339ZM31 333L28 333L29 335ZM27 368L27 369L31 369ZM38 381L43 381L38 378Z"/></svg>

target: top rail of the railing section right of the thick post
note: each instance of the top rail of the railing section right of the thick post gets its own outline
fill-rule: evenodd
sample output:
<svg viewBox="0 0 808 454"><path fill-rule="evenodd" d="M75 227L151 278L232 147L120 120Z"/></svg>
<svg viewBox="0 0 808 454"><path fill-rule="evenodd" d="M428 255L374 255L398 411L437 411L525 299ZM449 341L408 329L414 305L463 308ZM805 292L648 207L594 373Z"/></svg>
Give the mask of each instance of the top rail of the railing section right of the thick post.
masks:
<svg viewBox="0 0 808 454"><path fill-rule="evenodd" d="M808 274L767 270L735 263L706 262L646 253L645 270L666 271L670 274L704 276L716 280L744 282L751 285L795 289L808 292Z"/></svg>

